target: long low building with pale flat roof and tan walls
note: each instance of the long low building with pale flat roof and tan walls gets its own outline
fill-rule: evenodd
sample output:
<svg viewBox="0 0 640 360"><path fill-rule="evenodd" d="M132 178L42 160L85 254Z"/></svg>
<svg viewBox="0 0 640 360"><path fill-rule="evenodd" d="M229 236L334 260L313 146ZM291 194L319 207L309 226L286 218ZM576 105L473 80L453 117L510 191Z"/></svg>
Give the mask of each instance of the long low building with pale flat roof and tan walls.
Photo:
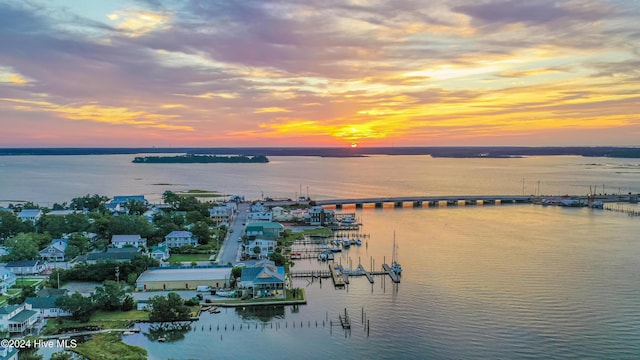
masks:
<svg viewBox="0 0 640 360"><path fill-rule="evenodd" d="M198 286L225 287L231 267L155 268L138 277L136 288L144 290L185 290Z"/></svg>

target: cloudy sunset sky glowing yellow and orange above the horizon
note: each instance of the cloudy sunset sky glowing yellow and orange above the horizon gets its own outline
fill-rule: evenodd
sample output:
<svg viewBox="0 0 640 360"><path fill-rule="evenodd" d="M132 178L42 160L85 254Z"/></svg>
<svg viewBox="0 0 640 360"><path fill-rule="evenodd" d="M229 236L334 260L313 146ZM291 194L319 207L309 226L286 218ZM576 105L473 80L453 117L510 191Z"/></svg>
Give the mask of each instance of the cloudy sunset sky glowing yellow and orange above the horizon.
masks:
<svg viewBox="0 0 640 360"><path fill-rule="evenodd" d="M0 0L0 147L639 139L638 0Z"/></svg>

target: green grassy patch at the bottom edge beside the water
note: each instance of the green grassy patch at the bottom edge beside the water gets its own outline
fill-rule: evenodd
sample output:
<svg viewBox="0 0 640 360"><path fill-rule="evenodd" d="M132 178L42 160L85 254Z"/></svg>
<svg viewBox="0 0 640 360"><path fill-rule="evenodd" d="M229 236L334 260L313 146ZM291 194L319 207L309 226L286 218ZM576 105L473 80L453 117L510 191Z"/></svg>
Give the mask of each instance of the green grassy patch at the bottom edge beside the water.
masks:
<svg viewBox="0 0 640 360"><path fill-rule="evenodd" d="M133 360L146 359L147 350L120 341L120 334L96 334L79 344L74 351L88 359Z"/></svg>

